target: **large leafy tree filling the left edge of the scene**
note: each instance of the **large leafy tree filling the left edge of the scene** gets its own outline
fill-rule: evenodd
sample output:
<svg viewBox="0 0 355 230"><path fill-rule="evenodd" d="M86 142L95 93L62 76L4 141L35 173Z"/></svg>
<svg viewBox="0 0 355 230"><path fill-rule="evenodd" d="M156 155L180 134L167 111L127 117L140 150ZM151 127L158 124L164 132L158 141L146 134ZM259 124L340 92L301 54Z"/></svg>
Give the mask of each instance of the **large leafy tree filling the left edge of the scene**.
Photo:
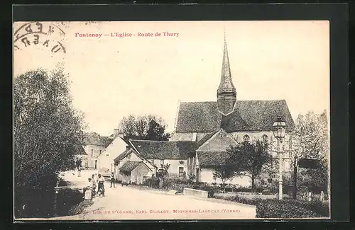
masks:
<svg viewBox="0 0 355 230"><path fill-rule="evenodd" d="M37 69L13 83L15 185L53 186L56 173L72 168L83 122L72 107L70 81L61 69Z"/></svg>

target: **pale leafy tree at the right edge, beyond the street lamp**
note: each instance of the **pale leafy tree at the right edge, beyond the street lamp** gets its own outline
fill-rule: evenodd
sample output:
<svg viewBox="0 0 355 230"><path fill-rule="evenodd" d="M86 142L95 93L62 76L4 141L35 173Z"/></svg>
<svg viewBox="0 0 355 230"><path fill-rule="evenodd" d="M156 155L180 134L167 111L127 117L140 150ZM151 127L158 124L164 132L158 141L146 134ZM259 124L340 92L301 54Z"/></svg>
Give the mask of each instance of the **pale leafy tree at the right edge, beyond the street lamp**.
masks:
<svg viewBox="0 0 355 230"><path fill-rule="evenodd" d="M313 111L299 115L292 136L297 141L298 158L315 159L320 168L302 168L298 173L298 184L309 188L327 190L329 168L329 131L327 111L316 114Z"/></svg>

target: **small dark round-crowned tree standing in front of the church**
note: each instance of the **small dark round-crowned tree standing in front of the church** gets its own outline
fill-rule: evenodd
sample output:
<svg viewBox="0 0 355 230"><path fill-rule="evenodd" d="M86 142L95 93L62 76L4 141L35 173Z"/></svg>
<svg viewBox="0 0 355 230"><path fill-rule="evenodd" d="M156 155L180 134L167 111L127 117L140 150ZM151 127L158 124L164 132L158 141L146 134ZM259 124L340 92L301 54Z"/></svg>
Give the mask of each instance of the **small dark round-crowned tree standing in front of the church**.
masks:
<svg viewBox="0 0 355 230"><path fill-rule="evenodd" d="M230 165L234 167L237 176L249 176L251 188L255 187L255 180L261 174L263 166L271 161L267 144L257 141L255 144L245 141L227 149Z"/></svg>

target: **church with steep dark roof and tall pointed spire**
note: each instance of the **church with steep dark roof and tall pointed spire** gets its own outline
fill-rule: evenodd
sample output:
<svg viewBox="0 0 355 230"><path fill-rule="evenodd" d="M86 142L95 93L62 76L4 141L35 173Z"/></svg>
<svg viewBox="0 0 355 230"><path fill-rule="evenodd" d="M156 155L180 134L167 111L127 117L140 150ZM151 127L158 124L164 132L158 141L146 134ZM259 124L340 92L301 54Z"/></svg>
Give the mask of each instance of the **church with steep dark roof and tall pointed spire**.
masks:
<svg viewBox="0 0 355 230"><path fill-rule="evenodd" d="M217 101L181 102L178 106L175 131L170 138L170 141L175 142L196 143L187 153L187 175L194 175L197 181L218 183L212 174L216 166L224 163L227 157L226 149L231 144L262 140L276 146L273 122L277 117L285 121L287 133L295 128L285 100L238 100L236 95L224 36L222 74L217 88ZM283 142L284 171L290 170L289 146L290 140L286 134ZM276 154L273 153L273 156L276 157ZM237 184L247 183L246 178L234 180L233 183Z"/></svg>

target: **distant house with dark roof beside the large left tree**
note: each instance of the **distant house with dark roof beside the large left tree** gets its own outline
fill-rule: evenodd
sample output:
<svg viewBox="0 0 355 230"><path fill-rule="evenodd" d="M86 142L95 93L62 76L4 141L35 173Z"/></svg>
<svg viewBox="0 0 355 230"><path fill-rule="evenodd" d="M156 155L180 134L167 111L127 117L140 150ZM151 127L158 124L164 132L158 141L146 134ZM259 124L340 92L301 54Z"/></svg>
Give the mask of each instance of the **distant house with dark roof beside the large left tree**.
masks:
<svg viewBox="0 0 355 230"><path fill-rule="evenodd" d="M101 137L95 132L85 134L83 148L87 154L87 159L82 162L85 169L98 169L99 159L97 158L102 151L109 145L109 137Z"/></svg>

